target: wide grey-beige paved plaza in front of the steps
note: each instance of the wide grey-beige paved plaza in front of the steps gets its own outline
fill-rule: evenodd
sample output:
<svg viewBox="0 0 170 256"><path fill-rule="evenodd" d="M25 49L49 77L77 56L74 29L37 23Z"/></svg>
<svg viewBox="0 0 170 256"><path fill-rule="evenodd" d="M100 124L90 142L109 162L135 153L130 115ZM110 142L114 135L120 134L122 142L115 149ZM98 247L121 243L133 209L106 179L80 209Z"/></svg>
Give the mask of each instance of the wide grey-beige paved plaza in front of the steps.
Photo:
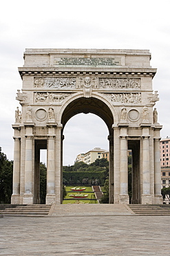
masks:
<svg viewBox="0 0 170 256"><path fill-rule="evenodd" d="M169 216L3 217L0 255L170 255Z"/></svg>

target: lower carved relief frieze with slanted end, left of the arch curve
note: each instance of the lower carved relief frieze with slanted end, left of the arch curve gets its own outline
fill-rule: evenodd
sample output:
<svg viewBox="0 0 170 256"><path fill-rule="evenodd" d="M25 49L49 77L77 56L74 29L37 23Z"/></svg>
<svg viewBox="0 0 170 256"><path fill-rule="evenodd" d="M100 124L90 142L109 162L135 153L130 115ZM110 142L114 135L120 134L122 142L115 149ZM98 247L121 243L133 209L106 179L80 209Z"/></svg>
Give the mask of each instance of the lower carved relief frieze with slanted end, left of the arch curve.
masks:
<svg viewBox="0 0 170 256"><path fill-rule="evenodd" d="M61 103L65 98L70 96L70 93L34 93L34 102L45 102L45 103Z"/></svg>

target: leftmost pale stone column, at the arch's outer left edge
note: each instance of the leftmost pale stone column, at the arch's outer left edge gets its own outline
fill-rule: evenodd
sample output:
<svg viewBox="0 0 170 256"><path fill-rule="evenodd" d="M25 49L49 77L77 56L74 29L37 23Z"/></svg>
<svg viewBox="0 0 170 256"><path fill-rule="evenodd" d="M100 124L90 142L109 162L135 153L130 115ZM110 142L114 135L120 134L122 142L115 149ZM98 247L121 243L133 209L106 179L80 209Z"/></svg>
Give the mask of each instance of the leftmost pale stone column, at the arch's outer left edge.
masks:
<svg viewBox="0 0 170 256"><path fill-rule="evenodd" d="M14 137L13 192L11 196L12 204L20 203L20 165L21 165L20 138Z"/></svg>

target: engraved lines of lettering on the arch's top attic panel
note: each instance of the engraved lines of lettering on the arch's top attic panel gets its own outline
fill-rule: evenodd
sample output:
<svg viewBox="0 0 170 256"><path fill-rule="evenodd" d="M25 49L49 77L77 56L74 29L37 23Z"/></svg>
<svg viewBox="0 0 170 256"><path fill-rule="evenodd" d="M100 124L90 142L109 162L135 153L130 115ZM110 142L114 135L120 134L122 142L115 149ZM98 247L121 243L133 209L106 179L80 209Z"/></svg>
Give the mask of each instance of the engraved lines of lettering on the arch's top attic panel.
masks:
<svg viewBox="0 0 170 256"><path fill-rule="evenodd" d="M54 65L59 66L120 66L121 58L100 57L55 57Z"/></svg>

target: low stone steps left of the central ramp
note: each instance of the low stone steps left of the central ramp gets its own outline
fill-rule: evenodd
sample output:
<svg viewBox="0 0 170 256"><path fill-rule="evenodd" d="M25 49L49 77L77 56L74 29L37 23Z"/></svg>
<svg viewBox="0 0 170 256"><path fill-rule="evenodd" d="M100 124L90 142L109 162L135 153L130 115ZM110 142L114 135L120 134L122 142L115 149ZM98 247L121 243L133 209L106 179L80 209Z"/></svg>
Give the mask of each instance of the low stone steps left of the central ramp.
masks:
<svg viewBox="0 0 170 256"><path fill-rule="evenodd" d="M50 214L52 205L0 205L0 214L3 216L45 217Z"/></svg>

